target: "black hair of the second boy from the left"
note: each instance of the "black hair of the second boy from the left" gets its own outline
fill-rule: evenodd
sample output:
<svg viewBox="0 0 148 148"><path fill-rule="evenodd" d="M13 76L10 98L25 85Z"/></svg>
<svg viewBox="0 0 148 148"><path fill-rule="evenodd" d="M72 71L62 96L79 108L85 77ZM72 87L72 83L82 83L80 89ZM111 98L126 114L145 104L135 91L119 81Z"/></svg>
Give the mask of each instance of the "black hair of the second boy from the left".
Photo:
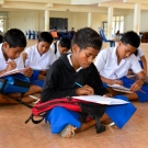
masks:
<svg viewBox="0 0 148 148"><path fill-rule="evenodd" d="M52 44L54 41L54 37L52 36L50 33L48 32L42 32L39 35L38 35L38 42L47 42L49 44Z"/></svg>

